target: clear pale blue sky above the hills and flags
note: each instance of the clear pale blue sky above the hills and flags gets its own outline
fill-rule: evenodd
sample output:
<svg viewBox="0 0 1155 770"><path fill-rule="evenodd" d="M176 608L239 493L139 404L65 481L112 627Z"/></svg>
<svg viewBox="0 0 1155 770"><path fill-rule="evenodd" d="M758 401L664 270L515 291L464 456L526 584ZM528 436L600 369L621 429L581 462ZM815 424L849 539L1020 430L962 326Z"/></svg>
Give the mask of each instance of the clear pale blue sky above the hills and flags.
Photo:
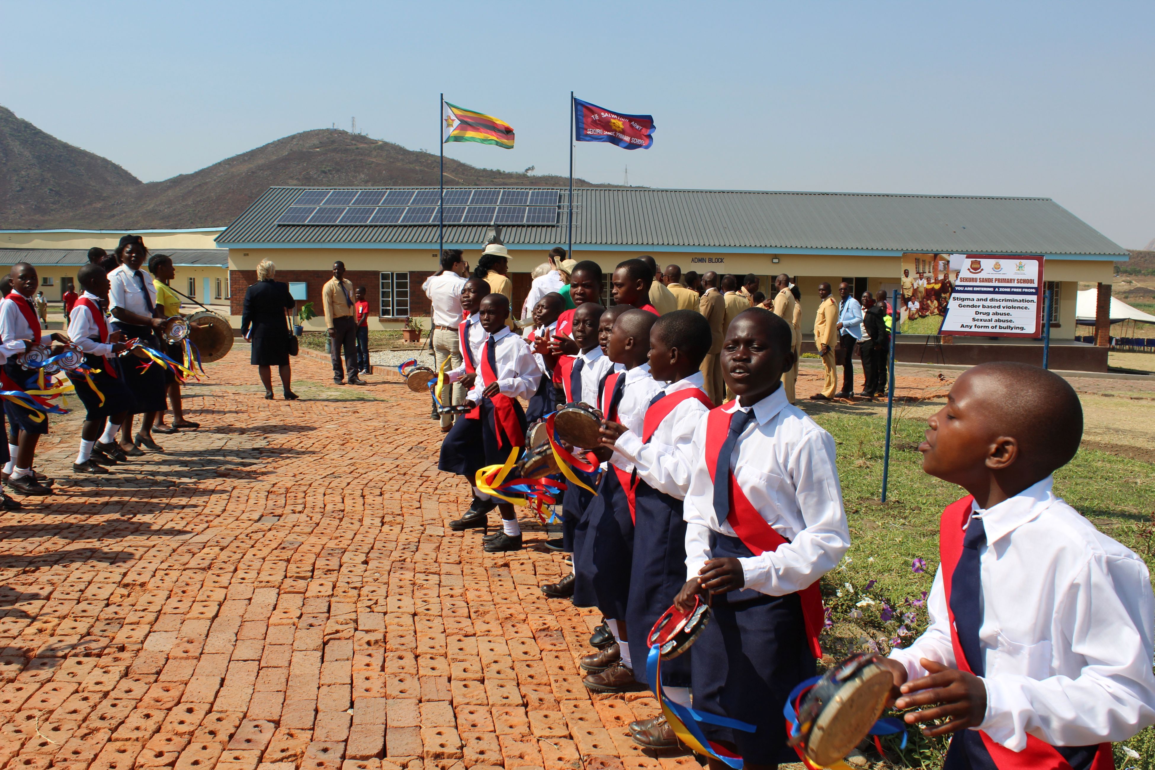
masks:
<svg viewBox="0 0 1155 770"><path fill-rule="evenodd" d="M10 2L0 104L144 180L349 128L437 151L438 94L566 173L568 96L653 114L576 173L653 187L1042 195L1155 238L1155 3Z"/></svg>

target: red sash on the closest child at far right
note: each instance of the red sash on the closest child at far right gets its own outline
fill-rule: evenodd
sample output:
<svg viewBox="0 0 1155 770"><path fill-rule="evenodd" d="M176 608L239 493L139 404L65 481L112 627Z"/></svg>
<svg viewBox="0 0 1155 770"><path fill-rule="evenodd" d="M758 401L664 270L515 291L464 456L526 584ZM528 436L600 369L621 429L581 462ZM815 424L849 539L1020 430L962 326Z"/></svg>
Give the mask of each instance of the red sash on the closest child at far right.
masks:
<svg viewBox="0 0 1155 770"><path fill-rule="evenodd" d="M974 673L967 663L967 656L962 653L962 645L959 644L959 633L954 627L954 612L951 610L951 580L954 577L954 568L959 565L959 556L962 555L962 539L966 530L963 523L970 518L974 501L971 495L955 500L942 510L939 519L939 571L942 574L942 591L946 595L946 611L951 620L951 648L954 650L954 665L959 671ZM1071 764L1050 743L1027 735L1027 748L1021 752L1012 752L1006 746L994 742L990 735L979 730L978 734L983 739L983 747L991 755L994 767L999 770L1072 770ZM1090 770L1115 770L1115 757L1111 753L1110 743L1100 743L1095 760Z"/></svg>

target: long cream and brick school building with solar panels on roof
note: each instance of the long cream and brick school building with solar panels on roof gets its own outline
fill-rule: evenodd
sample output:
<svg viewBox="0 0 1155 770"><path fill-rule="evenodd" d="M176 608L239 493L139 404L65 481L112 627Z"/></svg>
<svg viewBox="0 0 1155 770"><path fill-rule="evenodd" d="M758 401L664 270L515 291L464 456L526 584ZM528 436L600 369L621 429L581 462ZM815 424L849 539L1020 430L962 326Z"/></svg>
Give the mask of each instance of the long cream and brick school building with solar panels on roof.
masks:
<svg viewBox="0 0 1155 770"><path fill-rule="evenodd" d="M569 242L565 189L447 188L444 207L445 246L464 249L471 266L500 231L517 312L530 271L550 248ZM420 286L438 269L438 239L437 188L270 187L216 241L229 249L233 315L262 259L320 315L321 286L341 260L353 285L367 290L371 328L385 329L427 316ZM581 188L574 190L572 242L573 259L594 260L606 274L650 254L683 272L752 272L769 293L770 277L785 272L803 293L804 336L813 328L821 282L851 282L857 297L897 289L903 268L929 272L949 254L1043 255L1056 298L1052 366L1090 369L1105 369L1106 352L1074 342L1078 283L1109 290L1115 262L1127 259L1124 248L1045 197ZM915 342L925 346L919 338L900 347ZM957 344L936 341L922 354L942 362L1041 358L1031 341L998 341L1007 349L993 352L994 341L951 342ZM917 354L900 350L899 357Z"/></svg>

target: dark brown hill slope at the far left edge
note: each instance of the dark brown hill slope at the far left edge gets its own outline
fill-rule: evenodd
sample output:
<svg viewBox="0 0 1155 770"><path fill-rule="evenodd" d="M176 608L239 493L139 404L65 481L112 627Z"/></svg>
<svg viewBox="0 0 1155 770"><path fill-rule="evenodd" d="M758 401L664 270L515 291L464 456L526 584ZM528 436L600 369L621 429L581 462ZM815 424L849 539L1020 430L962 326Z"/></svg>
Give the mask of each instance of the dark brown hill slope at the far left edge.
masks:
<svg viewBox="0 0 1155 770"><path fill-rule="evenodd" d="M143 186L111 160L0 107L0 227L64 222L112 190L127 195Z"/></svg>

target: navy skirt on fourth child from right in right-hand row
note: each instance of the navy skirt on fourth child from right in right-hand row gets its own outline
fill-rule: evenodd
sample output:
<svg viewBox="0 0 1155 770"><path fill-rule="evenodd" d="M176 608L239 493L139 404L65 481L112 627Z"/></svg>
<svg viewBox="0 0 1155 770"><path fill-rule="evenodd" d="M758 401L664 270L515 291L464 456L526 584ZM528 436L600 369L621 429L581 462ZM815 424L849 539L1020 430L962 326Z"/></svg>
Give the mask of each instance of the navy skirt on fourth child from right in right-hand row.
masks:
<svg viewBox="0 0 1155 770"><path fill-rule="evenodd" d="M626 619L634 522L626 491L611 465L574 537L574 604L597 607L613 620ZM644 659L644 658L643 658Z"/></svg>

